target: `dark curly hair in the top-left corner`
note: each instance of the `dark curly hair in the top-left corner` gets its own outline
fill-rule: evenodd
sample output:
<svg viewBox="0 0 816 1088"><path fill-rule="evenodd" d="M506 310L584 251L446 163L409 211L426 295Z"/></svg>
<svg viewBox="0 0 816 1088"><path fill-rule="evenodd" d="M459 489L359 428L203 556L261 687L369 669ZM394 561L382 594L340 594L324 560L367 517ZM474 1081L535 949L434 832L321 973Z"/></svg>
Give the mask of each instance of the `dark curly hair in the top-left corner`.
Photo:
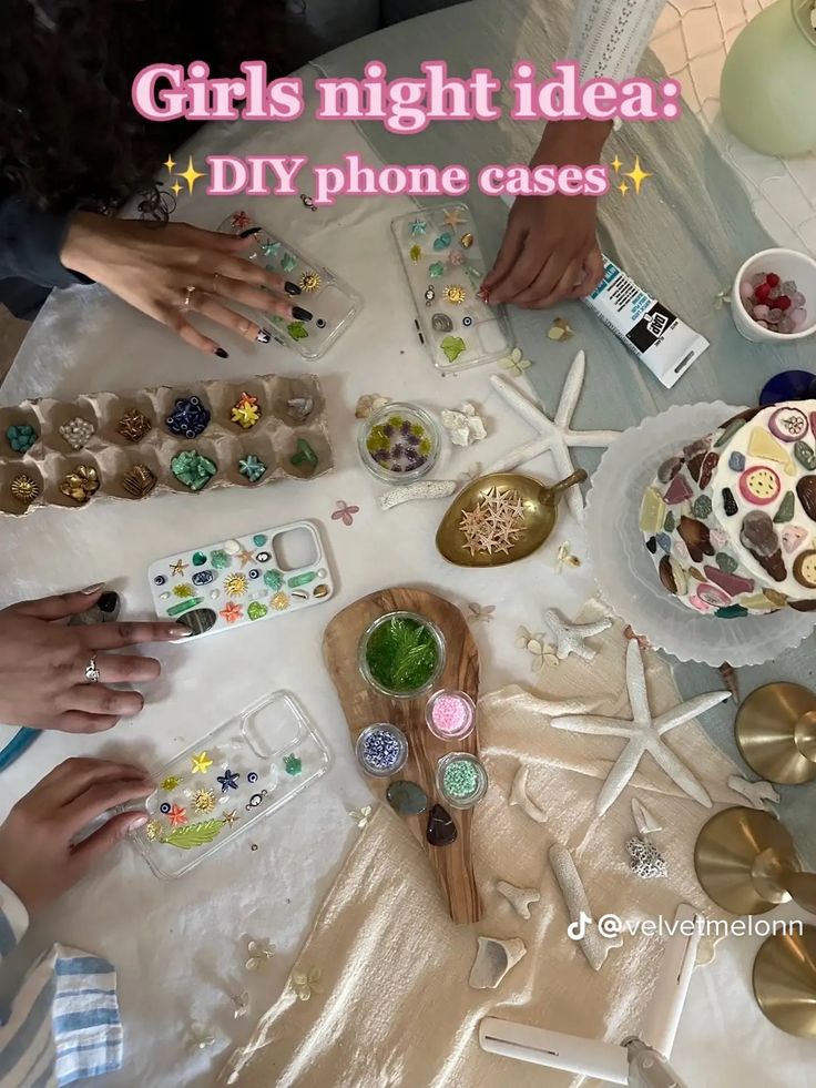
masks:
<svg viewBox="0 0 816 1088"><path fill-rule="evenodd" d="M145 121L131 102L153 63L204 60L238 75L265 60L269 78L315 55L290 0L6 0L0 34L0 185L40 209L115 209L155 186L187 121ZM147 204L150 204L150 195Z"/></svg>

